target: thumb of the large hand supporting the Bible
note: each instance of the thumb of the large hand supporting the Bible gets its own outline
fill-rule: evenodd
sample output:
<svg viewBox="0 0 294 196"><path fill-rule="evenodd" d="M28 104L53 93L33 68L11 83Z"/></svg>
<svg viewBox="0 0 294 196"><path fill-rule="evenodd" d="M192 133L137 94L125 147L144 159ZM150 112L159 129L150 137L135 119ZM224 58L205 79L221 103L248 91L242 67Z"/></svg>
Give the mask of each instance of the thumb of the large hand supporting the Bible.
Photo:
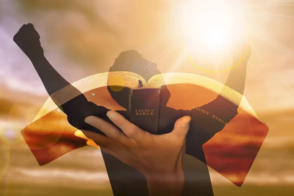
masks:
<svg viewBox="0 0 294 196"><path fill-rule="evenodd" d="M171 135L177 137L178 139L185 140L188 130L190 128L190 121L190 116L184 116L177 119L177 121L174 123L174 128L171 132Z"/></svg>

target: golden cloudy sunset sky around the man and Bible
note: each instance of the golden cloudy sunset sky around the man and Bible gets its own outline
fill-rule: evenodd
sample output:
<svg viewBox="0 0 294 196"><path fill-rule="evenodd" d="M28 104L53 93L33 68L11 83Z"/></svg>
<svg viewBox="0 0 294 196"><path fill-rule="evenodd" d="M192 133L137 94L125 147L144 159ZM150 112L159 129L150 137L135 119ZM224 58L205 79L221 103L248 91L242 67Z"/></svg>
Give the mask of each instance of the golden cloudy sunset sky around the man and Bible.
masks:
<svg viewBox="0 0 294 196"><path fill-rule="evenodd" d="M249 10L252 33L244 95L270 131L242 187L210 169L214 193L290 196L294 193L294 1L240 2ZM194 73L223 83L228 73L205 72L177 55L175 18L181 3L0 0L0 194L112 195L98 149L74 150L40 167L20 136L48 95L31 62L13 42L19 28L27 23L35 26L45 56L71 83L107 72L115 58L130 49L154 61L163 73Z"/></svg>

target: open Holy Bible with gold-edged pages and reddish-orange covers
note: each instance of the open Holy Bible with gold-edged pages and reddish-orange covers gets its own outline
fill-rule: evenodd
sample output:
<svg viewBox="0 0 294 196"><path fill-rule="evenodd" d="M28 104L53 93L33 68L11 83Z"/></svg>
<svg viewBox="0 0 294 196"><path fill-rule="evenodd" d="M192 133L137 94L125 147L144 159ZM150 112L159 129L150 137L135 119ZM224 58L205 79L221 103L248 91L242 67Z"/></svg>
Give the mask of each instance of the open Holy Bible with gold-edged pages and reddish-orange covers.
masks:
<svg viewBox="0 0 294 196"><path fill-rule="evenodd" d="M86 105L79 105L81 94ZM58 100L58 101L56 101ZM88 108L67 116L69 106ZM69 110L69 109L67 109ZM107 72L81 79L49 97L22 135L40 165L86 145L74 137L75 127L96 131L83 118L97 115L107 121L108 110L152 134L172 131L175 121L190 115L186 154L241 186L269 131L243 95L215 80L187 73L166 73L146 82L131 72ZM82 119L80 121L74 119ZM72 126L75 123L75 126ZM201 150L199 150L201 149ZM203 154L204 153L204 154ZM203 154L203 156L202 156Z"/></svg>

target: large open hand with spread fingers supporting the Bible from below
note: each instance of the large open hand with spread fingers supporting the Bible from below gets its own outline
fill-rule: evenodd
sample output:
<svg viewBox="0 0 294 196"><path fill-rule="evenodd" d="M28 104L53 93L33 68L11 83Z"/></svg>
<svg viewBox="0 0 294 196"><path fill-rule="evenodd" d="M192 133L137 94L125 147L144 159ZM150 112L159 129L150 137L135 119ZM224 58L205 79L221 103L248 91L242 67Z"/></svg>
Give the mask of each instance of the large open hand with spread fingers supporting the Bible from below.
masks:
<svg viewBox="0 0 294 196"><path fill-rule="evenodd" d="M88 139L88 145L98 144L102 151L142 172L147 178L150 196L181 195L184 183L182 161L191 117L178 119L171 133L152 135L127 121L118 112L109 111L107 116L123 132L98 117L89 116L85 122L106 136L85 130L82 131L84 135L79 130L75 135Z"/></svg>

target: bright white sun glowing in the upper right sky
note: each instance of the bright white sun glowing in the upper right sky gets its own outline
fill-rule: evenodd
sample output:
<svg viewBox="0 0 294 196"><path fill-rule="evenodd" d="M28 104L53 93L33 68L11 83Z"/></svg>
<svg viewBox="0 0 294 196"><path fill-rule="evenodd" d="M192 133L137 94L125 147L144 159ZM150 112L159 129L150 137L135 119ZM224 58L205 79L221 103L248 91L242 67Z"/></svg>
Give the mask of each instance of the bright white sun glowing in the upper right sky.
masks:
<svg viewBox="0 0 294 196"><path fill-rule="evenodd" d="M241 6L229 0L188 0L183 7L183 38L189 51L216 52L245 33Z"/></svg>

